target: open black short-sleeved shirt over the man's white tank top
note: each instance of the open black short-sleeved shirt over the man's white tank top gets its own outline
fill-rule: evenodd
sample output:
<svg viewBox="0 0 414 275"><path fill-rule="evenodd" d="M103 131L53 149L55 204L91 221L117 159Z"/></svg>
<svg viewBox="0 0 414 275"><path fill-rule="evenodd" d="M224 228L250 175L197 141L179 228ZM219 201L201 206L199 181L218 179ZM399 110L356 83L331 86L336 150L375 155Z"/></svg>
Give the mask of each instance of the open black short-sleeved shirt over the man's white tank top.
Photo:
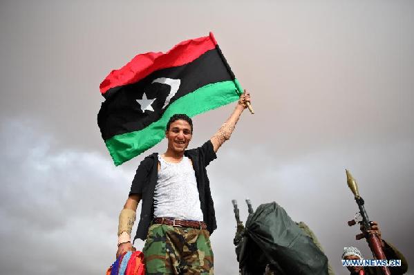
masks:
<svg viewBox="0 0 414 275"><path fill-rule="evenodd" d="M193 163L194 173L196 174L198 196L200 198L200 207L203 211L203 220L207 225L210 234L217 228L216 214L214 212L214 203L211 198L209 178L205 167L214 160L216 153L213 144L208 140L202 146L186 150L184 155ZM133 178L131 191L129 195L140 194L142 198L141 217L138 223L135 239L147 238L148 229L151 220L154 218L153 195L158 180L158 153L153 153L144 158Z"/></svg>

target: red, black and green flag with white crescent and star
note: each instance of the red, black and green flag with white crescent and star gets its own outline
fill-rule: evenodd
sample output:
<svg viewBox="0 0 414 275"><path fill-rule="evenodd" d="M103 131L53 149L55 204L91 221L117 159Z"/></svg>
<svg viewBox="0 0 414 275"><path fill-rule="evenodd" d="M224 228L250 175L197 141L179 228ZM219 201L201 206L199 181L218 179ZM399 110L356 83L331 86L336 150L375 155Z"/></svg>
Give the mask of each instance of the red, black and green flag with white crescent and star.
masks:
<svg viewBox="0 0 414 275"><path fill-rule="evenodd" d="M189 117L234 102L241 86L210 32L167 53L144 53L100 84L105 97L97 124L115 165L165 137L176 113Z"/></svg>

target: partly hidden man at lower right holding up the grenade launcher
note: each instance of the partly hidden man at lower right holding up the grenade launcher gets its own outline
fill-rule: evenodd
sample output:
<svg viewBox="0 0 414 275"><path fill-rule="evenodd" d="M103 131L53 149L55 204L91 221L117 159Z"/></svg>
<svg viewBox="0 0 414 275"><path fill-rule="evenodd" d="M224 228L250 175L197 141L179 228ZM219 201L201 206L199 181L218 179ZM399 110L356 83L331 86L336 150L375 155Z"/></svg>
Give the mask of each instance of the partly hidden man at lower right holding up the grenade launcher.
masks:
<svg viewBox="0 0 414 275"><path fill-rule="evenodd" d="M379 226L377 222L370 222L371 228L366 232L368 234L377 234L379 241L381 242L382 249L387 260L401 260L400 267L388 267L390 269L391 274L399 275L405 274L408 269L408 263L406 258L399 252L393 245L387 243L385 240L381 238L381 231L379 230ZM361 228L363 229L363 228ZM344 253L342 254L343 260L364 260L362 257L361 252L356 247L344 247ZM350 271L351 275L382 275L382 271L380 267L346 267Z"/></svg>

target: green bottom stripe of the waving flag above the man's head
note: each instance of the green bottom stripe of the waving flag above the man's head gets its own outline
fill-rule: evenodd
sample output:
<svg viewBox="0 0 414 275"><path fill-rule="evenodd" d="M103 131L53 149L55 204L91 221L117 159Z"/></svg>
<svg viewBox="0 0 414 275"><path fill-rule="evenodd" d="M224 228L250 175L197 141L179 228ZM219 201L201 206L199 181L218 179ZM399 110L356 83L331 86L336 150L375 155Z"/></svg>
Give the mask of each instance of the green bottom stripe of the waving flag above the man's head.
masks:
<svg viewBox="0 0 414 275"><path fill-rule="evenodd" d="M185 113L189 117L213 110L235 102L241 91L237 79L234 81L208 84L196 91L177 99L165 111L160 120L151 123L140 131L115 135L106 140L106 147L116 166L131 160L140 153L155 146L165 137L165 126L169 118L176 113Z"/></svg>

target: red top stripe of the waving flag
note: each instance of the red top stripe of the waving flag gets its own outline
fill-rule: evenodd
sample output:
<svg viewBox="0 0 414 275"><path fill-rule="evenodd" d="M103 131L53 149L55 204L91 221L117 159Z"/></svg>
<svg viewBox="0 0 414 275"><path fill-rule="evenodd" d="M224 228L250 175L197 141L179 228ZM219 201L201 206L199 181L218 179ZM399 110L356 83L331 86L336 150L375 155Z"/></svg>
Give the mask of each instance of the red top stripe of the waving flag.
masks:
<svg viewBox="0 0 414 275"><path fill-rule="evenodd" d="M216 45L216 39L210 32L207 37L182 41L167 53L150 52L137 55L122 68L112 70L100 84L100 91L104 94L110 88L138 82L156 70L187 64L207 50L212 50Z"/></svg>

